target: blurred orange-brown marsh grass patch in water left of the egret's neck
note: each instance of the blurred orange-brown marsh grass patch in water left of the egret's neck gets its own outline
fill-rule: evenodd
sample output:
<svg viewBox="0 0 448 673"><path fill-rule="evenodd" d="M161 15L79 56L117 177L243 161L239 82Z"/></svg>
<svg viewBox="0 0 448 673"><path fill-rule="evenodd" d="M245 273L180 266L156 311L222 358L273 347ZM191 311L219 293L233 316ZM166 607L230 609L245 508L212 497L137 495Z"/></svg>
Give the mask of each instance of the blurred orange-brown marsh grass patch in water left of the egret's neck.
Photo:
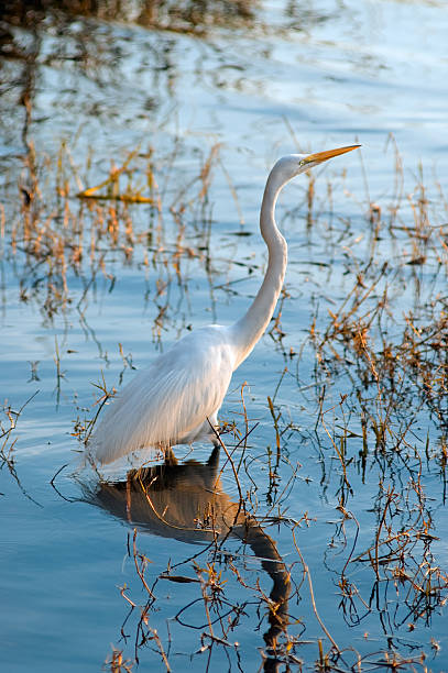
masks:
<svg viewBox="0 0 448 673"><path fill-rule="evenodd" d="M153 329L160 336L171 310L171 285L187 293L189 262L199 261L212 275L208 189L219 146L210 148L196 175L167 190L177 152L175 146L155 158L153 148L135 148L120 165L112 162L99 184L83 187L65 144L56 162L45 156L37 162L30 144L19 178L21 208L12 216L8 209L7 232L2 224L3 255L17 267L21 300L35 300L50 320L74 302L83 313L98 278L111 290L117 262L135 264L151 269L159 309Z"/></svg>

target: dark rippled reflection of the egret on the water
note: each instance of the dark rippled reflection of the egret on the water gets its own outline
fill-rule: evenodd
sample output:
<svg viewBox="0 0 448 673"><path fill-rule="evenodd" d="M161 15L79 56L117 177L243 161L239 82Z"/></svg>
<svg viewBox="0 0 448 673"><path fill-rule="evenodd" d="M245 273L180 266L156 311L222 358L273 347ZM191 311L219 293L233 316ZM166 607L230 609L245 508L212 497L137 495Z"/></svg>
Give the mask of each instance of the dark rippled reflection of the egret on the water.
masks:
<svg viewBox="0 0 448 673"><path fill-rule="evenodd" d="M266 647L286 631L289 575L274 540L253 516L221 490L218 475L219 449L207 463L187 461L132 470L121 482L100 483L89 500L139 530L184 542L212 542L232 534L247 543L263 570L271 576L270 628ZM276 659L265 661L265 670L276 670Z"/></svg>

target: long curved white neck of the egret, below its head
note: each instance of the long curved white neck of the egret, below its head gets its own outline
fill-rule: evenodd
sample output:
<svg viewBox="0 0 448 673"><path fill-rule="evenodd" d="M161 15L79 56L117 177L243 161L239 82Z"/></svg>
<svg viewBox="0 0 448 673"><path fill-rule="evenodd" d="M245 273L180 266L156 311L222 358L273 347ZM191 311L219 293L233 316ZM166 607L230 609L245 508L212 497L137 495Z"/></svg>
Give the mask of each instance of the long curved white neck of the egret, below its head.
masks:
<svg viewBox="0 0 448 673"><path fill-rule="evenodd" d="M260 211L260 231L269 251L267 271L263 284L245 316L232 326L238 355L237 368L262 336L274 312L282 290L287 264L287 245L275 223L275 203L285 180L272 172L264 189Z"/></svg>

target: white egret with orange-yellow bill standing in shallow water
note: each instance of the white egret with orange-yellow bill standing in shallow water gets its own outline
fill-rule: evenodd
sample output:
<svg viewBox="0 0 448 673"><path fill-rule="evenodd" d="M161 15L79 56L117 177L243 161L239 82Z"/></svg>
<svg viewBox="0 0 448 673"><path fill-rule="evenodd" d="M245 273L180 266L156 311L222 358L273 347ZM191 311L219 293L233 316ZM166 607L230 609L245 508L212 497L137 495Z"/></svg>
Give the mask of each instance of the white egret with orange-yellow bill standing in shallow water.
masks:
<svg viewBox="0 0 448 673"><path fill-rule="evenodd" d="M289 154L276 162L264 189L260 231L269 262L262 286L247 313L230 326L210 324L189 332L140 372L107 408L90 440L90 454L111 463L138 449L170 455L175 444L216 442L212 427L234 369L266 329L286 272L287 245L275 223L282 188L295 176L359 145L316 154Z"/></svg>

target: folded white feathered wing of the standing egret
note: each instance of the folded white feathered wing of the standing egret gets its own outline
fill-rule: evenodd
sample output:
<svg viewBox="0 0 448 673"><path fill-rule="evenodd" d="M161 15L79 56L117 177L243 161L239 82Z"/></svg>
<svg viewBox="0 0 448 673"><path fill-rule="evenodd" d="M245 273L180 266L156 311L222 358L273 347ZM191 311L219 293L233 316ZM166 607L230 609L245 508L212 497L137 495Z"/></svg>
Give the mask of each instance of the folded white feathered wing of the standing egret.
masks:
<svg viewBox="0 0 448 673"><path fill-rule="evenodd" d="M187 334L111 402L90 441L91 453L110 463L136 449L174 445L219 409L233 364L227 328Z"/></svg>

